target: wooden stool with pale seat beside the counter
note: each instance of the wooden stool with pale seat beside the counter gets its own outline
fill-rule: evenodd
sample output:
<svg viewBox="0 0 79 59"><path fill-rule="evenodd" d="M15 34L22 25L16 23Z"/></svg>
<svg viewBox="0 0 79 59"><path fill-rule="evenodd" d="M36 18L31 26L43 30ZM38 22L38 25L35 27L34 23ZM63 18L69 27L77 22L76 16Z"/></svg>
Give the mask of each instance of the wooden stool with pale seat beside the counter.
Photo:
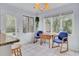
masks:
<svg viewBox="0 0 79 59"><path fill-rule="evenodd" d="M15 56L22 56L20 44L13 44L12 45L12 54Z"/></svg>

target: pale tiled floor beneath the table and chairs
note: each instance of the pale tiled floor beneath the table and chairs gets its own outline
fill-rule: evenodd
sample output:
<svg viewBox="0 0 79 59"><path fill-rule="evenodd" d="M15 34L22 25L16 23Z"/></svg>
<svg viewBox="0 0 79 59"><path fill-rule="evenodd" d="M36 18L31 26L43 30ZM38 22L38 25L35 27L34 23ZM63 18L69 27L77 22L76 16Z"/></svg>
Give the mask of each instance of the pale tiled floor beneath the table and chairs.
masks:
<svg viewBox="0 0 79 59"><path fill-rule="evenodd" d="M79 53L68 51L65 53L60 53L58 48L49 48L48 45L43 44L26 44L22 46L23 56L79 56Z"/></svg>

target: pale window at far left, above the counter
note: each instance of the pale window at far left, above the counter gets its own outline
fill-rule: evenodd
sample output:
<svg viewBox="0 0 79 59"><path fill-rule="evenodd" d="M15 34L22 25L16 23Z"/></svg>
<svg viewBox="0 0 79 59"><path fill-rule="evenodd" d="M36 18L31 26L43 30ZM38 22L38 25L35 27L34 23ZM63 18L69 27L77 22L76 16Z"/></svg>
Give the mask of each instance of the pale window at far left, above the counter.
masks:
<svg viewBox="0 0 79 59"><path fill-rule="evenodd" d="M6 33L14 34L15 33L15 16L7 15L6 16Z"/></svg>

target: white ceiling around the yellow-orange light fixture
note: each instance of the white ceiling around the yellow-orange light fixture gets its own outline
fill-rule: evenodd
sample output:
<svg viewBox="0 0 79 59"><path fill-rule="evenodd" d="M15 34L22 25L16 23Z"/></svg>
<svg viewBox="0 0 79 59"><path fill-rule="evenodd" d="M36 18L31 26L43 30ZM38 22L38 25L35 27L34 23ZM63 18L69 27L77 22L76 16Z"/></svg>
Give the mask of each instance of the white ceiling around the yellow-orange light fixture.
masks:
<svg viewBox="0 0 79 59"><path fill-rule="evenodd" d="M42 3L40 3L42 4ZM49 3L49 10L61 7L65 5L66 3ZM23 9L25 11L28 11L30 13L34 14L40 14L43 13L39 10L34 9L34 3L11 3L12 6L16 6L17 8Z"/></svg>

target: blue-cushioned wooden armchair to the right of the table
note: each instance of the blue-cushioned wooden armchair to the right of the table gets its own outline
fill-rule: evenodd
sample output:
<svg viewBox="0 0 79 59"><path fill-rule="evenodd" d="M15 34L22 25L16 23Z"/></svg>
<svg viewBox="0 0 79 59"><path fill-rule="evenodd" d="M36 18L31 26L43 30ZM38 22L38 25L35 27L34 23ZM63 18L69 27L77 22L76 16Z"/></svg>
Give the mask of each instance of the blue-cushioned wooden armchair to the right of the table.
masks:
<svg viewBox="0 0 79 59"><path fill-rule="evenodd" d="M54 43L57 43L58 46L54 46ZM66 43L67 49L62 51L63 44ZM60 47L60 53L68 51L68 33L60 32L58 36L56 36L53 40L52 48Z"/></svg>

